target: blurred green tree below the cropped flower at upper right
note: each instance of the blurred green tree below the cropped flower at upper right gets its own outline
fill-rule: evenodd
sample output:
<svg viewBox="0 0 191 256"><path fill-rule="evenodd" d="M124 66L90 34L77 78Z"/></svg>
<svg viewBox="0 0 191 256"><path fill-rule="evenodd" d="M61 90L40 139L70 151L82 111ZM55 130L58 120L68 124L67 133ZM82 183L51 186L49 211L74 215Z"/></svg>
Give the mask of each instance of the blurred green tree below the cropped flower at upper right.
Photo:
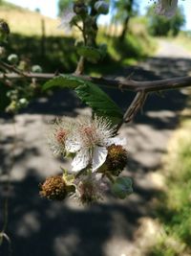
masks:
<svg viewBox="0 0 191 256"><path fill-rule="evenodd" d="M148 9L147 16L148 31L154 36L176 36L185 23L184 13L180 8L178 8L176 14L170 19L162 15L157 15L153 7Z"/></svg>

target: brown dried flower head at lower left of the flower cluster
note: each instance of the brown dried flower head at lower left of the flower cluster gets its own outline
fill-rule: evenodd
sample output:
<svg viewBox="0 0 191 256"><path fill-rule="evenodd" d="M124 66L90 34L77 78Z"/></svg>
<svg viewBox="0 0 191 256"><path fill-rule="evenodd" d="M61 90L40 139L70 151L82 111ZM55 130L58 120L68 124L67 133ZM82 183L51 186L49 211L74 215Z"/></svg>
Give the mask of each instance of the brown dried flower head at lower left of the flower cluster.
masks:
<svg viewBox="0 0 191 256"><path fill-rule="evenodd" d="M62 175L50 176L40 186L40 195L44 198L63 200L67 194L67 185Z"/></svg>

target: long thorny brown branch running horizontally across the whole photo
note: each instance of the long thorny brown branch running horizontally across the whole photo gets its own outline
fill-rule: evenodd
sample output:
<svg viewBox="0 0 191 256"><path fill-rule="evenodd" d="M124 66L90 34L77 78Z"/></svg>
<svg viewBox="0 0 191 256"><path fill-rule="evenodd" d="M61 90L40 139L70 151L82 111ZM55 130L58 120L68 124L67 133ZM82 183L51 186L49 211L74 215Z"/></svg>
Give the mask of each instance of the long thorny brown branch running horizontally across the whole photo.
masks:
<svg viewBox="0 0 191 256"><path fill-rule="evenodd" d="M37 81L47 81L56 77L56 74L36 74L36 73L27 73L15 74L15 73L6 73L0 74L0 80L5 78L10 80L22 80L26 79L36 79ZM81 78L85 81L92 81L99 85L105 85L109 87L118 87L124 90L130 91L144 91L144 92L155 92L155 91L164 91L170 89L178 89L183 87L191 86L191 77L182 77L175 79L166 79L166 80L157 80L157 81L134 81L130 79L117 78L117 79L108 79L108 78L93 78L88 76L77 76L72 74L71 76Z"/></svg>

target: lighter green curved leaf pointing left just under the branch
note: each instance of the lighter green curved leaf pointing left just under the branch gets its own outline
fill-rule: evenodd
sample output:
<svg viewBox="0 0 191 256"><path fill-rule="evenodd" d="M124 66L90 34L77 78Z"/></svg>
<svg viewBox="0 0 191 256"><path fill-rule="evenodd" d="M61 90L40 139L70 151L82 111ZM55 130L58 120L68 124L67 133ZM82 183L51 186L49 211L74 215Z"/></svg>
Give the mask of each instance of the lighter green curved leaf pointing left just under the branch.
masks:
<svg viewBox="0 0 191 256"><path fill-rule="evenodd" d="M42 89L47 90L54 86L60 86L62 88L74 89L78 85L83 84L83 83L84 83L84 81L82 81L78 78L72 77L70 75L62 75L59 77L55 77L50 81L45 82L45 84L43 84L43 86L42 86Z"/></svg>

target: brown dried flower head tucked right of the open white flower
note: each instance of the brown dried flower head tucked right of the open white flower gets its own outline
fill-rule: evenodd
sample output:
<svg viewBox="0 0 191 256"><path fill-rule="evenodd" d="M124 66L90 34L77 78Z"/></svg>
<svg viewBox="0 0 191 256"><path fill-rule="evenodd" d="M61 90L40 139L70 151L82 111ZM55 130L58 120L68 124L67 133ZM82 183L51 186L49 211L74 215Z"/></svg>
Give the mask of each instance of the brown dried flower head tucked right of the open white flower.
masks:
<svg viewBox="0 0 191 256"><path fill-rule="evenodd" d="M105 161L107 170L112 175L119 175L127 164L127 151L121 145L111 145L107 148L108 155Z"/></svg>

